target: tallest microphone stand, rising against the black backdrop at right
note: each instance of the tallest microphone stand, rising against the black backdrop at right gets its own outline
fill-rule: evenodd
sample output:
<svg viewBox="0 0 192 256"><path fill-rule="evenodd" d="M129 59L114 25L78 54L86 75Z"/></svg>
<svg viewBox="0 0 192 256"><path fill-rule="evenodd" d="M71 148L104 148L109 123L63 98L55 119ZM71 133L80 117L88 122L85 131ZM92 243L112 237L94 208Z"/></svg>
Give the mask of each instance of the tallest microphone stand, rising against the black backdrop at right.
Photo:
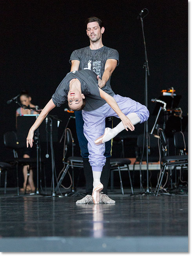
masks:
<svg viewBox="0 0 192 256"><path fill-rule="evenodd" d="M150 76L149 73L149 65L148 65L148 59L147 59L147 50L146 50L146 42L145 42L145 34L144 34L144 26L143 26L143 18L146 17L149 14L148 9L144 8L143 10L147 10L146 15L139 15L141 19L141 27L142 27L142 32L143 32L143 43L144 43L144 48L145 48L145 62L143 65L143 68L145 67L145 106L147 107L147 76ZM147 188L145 193L149 194L149 141L148 141L148 121L146 121L145 129L144 129L144 138L146 135L146 150L147 150ZM142 162L142 159L141 159Z"/></svg>

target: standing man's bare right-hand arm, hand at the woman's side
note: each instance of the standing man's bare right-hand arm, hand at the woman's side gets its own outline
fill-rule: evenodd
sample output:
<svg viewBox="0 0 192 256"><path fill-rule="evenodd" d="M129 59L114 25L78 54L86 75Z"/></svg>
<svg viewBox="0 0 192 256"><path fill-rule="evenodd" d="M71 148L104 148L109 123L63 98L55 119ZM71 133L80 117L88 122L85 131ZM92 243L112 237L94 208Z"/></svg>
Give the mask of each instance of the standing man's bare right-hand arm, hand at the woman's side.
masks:
<svg viewBox="0 0 192 256"><path fill-rule="evenodd" d="M112 72L114 71L114 69L116 68L116 66L117 66L116 59L107 59L107 61L105 63L105 71L103 73L102 80L99 78L99 76L97 76L98 85L100 88L103 88L105 86L105 84L109 80L109 78L110 78Z"/></svg>

